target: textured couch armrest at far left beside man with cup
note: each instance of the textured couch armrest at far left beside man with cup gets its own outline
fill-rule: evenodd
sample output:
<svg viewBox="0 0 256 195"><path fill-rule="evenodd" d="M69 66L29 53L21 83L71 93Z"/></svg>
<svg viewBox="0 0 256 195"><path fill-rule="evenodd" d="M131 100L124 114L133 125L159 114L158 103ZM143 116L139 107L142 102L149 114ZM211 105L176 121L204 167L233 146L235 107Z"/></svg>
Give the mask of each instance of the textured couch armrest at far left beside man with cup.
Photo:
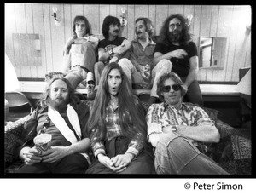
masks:
<svg viewBox="0 0 256 195"><path fill-rule="evenodd" d="M6 166L13 163L15 159L15 150L17 146L22 144L20 136L24 129L26 119L29 117L20 118L15 122L9 122L4 130L4 163Z"/></svg>

